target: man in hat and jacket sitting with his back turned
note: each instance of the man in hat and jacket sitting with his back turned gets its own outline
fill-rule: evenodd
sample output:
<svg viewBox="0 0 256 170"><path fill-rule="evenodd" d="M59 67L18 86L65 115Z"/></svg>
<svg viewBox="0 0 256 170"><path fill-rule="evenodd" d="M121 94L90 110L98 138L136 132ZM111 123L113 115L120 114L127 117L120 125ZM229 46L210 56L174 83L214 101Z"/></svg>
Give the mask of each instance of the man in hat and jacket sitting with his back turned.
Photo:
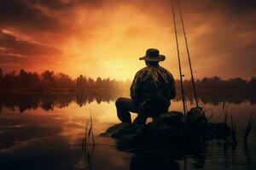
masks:
<svg viewBox="0 0 256 170"><path fill-rule="evenodd" d="M131 84L131 99L119 98L115 105L121 122L131 123L131 112L137 113L134 124L145 124L148 116L157 116L167 112L170 100L176 96L172 74L159 65L166 56L158 49L149 48L146 55L139 58L147 65L140 71Z"/></svg>

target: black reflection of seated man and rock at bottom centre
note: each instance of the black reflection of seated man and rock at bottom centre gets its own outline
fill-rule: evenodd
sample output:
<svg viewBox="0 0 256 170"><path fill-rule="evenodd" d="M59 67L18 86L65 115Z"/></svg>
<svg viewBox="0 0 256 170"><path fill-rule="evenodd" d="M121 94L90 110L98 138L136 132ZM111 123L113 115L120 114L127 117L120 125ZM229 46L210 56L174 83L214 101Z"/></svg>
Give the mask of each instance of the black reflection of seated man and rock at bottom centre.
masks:
<svg viewBox="0 0 256 170"><path fill-rule="evenodd" d="M117 142L117 149L130 152L131 156L130 169L180 169L177 159L182 159L184 154L183 148L173 148L167 145L140 144L135 145L132 142Z"/></svg>

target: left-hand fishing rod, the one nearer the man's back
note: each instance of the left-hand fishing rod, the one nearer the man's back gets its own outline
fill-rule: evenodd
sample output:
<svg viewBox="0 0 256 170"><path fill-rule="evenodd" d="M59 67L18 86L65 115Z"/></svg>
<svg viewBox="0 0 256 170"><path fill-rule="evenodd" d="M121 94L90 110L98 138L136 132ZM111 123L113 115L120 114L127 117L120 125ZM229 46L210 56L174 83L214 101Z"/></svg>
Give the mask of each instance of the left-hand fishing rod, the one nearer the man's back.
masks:
<svg viewBox="0 0 256 170"><path fill-rule="evenodd" d="M172 0L171 0L172 2ZM179 76L180 76L180 85L181 85L181 92L182 92L182 97L183 97L183 111L184 111L184 116L186 116L186 105L185 105L185 95L184 95L184 88L183 88L183 74L181 70L181 64L180 64L180 56L179 56L179 48L178 48L178 42L177 42L177 27L176 27L176 20L175 20L175 14L174 14L174 9L173 9L173 2L172 2L172 19L173 19L173 24L174 24L174 31L175 31L175 38L176 38L176 47L177 47L177 60L178 60L178 69L179 69Z"/></svg>

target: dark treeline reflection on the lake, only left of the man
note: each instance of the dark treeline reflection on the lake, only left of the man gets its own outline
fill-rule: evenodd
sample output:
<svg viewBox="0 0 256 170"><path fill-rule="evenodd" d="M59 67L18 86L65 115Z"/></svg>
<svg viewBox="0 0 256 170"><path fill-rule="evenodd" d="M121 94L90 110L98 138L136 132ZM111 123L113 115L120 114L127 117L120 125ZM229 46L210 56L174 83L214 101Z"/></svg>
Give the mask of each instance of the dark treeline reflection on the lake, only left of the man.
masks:
<svg viewBox="0 0 256 170"><path fill-rule="evenodd" d="M54 108L64 108L75 102L79 106L90 104L96 101L97 104L102 102L113 101L122 95L119 93L88 93L88 94L72 94L72 93L53 93L53 94L0 94L1 108L15 110L18 108L20 112L26 110L37 109L38 107L44 111L53 111Z"/></svg>

